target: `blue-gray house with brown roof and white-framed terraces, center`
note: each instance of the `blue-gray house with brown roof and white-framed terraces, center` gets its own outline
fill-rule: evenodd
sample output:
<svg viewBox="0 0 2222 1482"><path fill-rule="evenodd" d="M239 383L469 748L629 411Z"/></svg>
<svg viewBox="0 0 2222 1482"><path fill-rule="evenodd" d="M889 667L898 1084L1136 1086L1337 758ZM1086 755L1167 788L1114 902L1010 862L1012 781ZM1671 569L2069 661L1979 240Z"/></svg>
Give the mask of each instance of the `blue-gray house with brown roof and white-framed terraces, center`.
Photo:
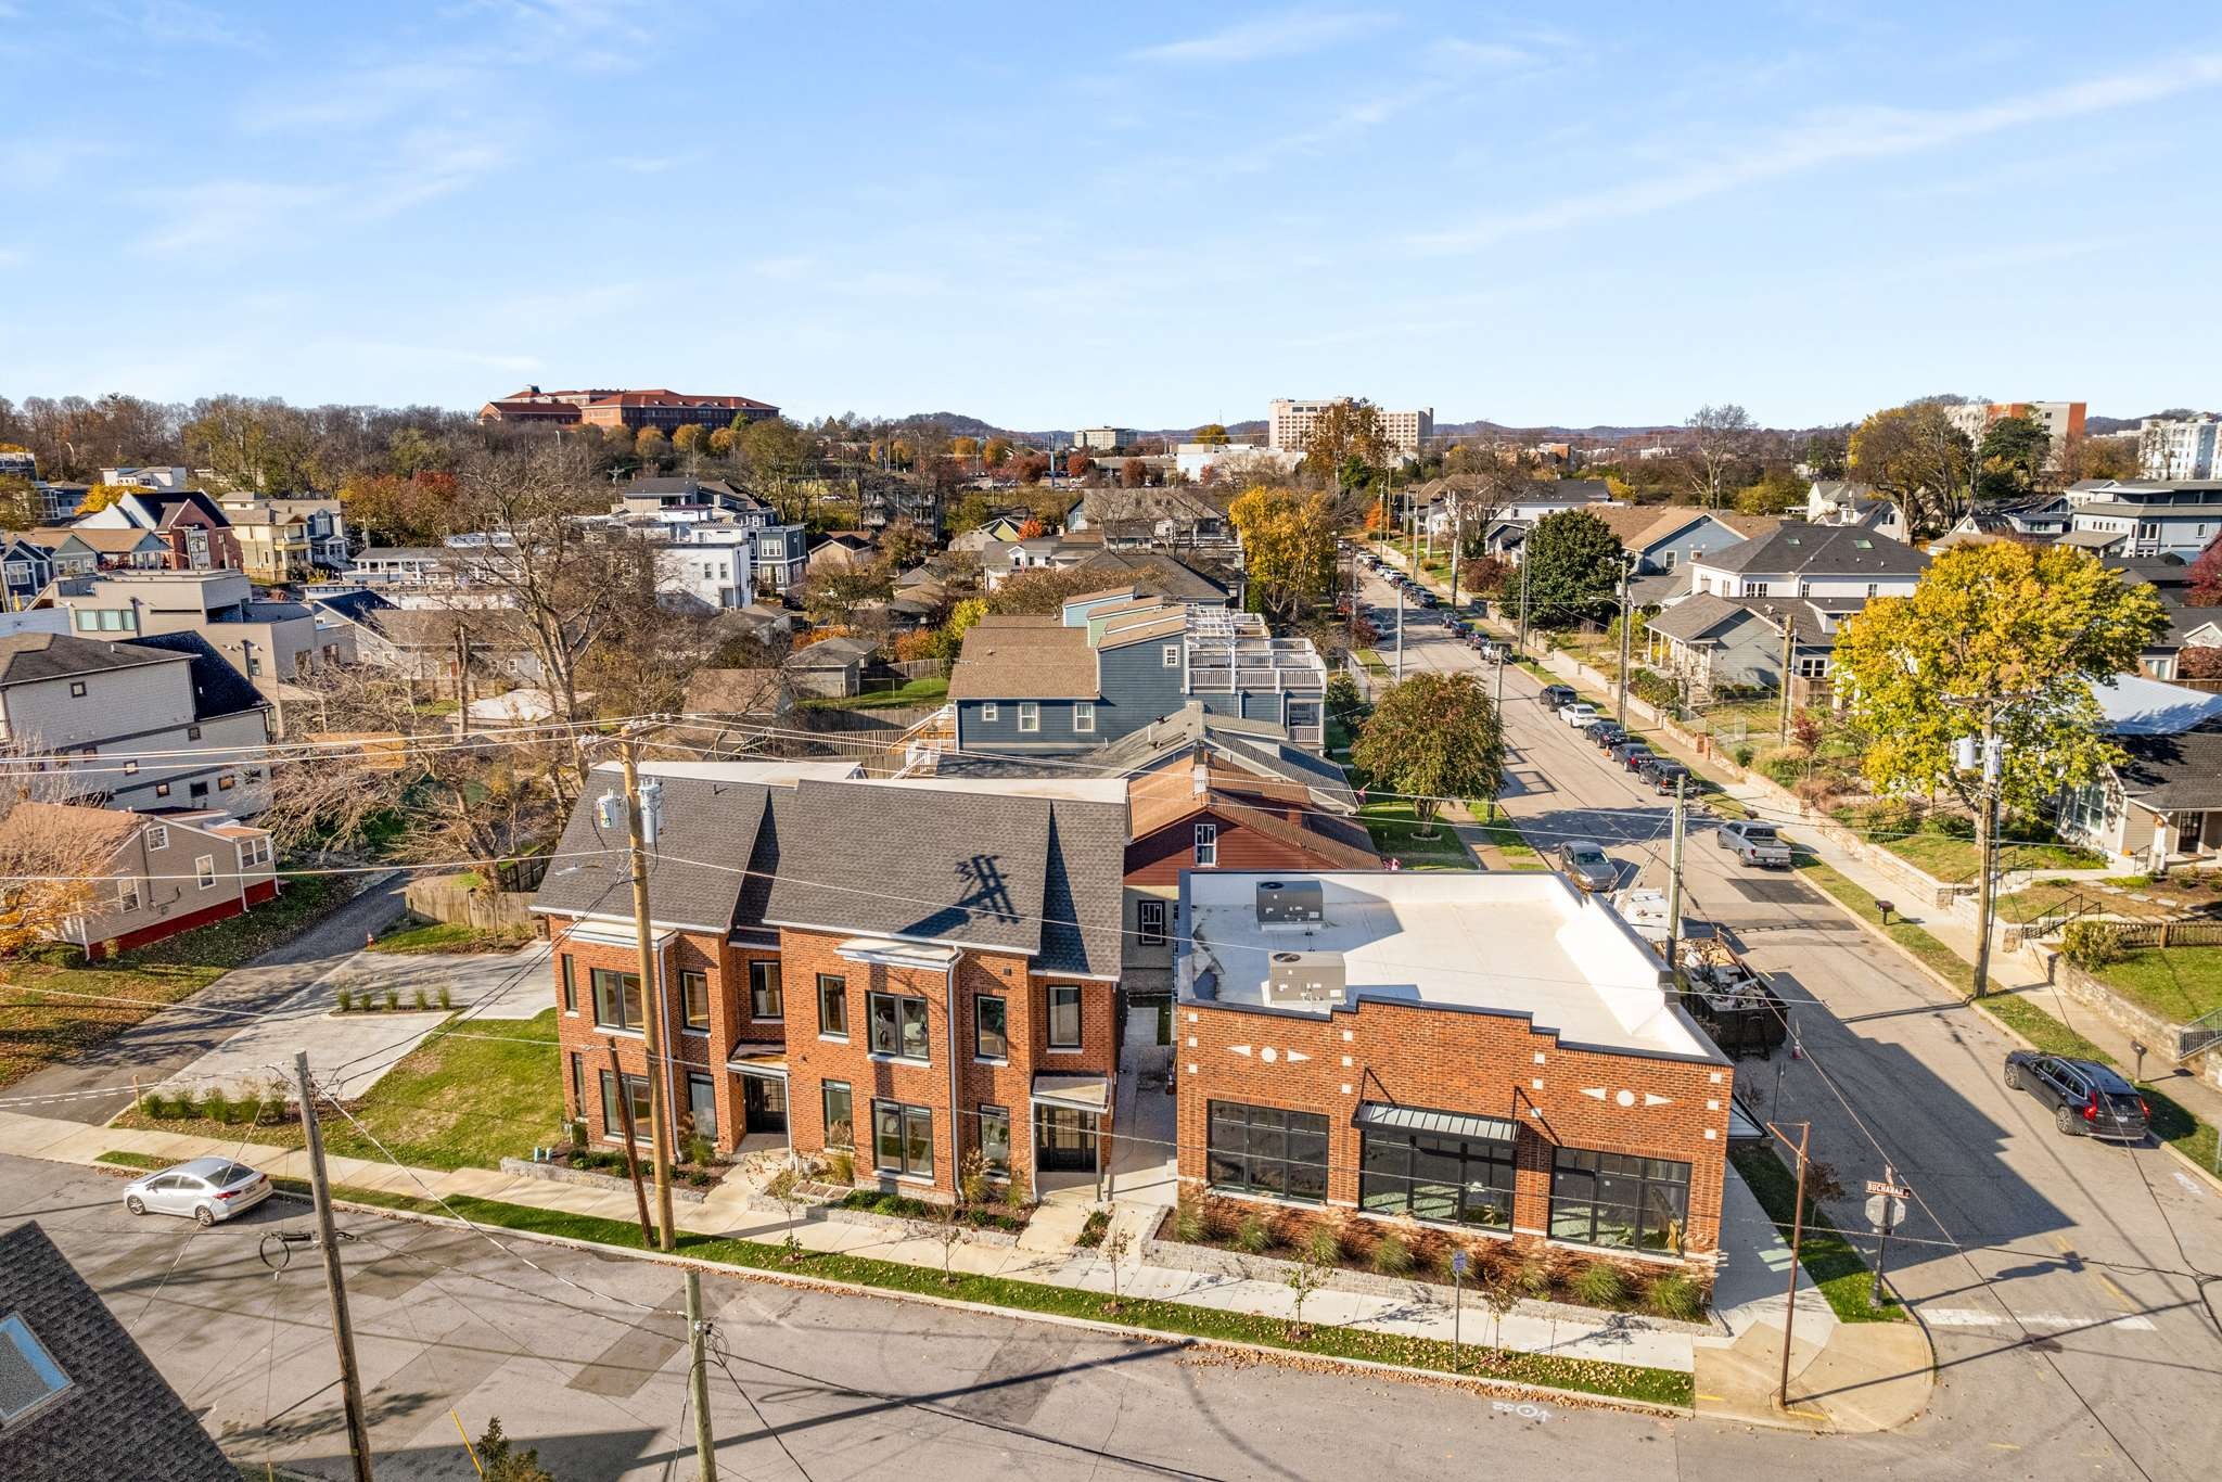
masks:
<svg viewBox="0 0 2222 1482"><path fill-rule="evenodd" d="M1073 598L1060 618L982 618L949 680L958 751L1087 751L1178 713L1267 720L1324 747L1327 667L1255 613L1193 609L1133 587Z"/></svg>

